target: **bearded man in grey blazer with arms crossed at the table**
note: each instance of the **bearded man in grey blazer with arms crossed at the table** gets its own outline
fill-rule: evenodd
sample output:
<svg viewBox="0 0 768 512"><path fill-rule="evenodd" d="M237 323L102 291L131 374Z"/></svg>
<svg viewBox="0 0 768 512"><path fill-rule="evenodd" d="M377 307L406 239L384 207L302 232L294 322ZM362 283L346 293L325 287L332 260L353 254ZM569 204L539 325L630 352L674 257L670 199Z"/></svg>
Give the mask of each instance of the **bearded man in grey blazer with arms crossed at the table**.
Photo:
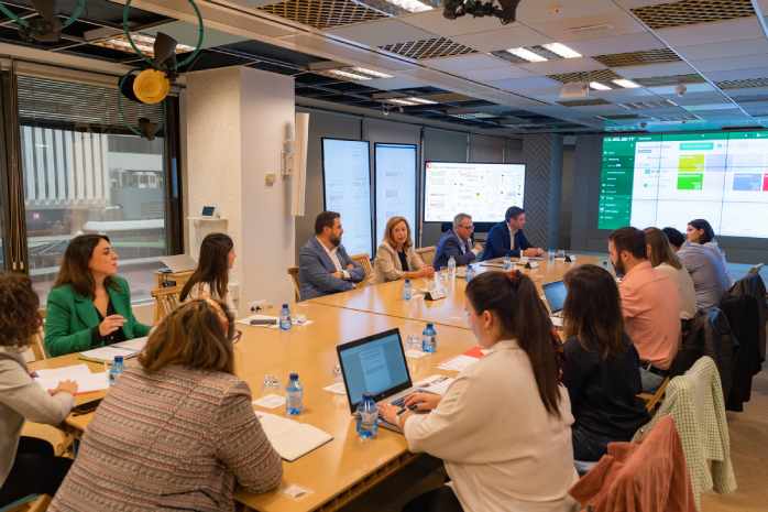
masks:
<svg viewBox="0 0 768 512"><path fill-rule="evenodd" d="M322 211L315 220L315 238L298 254L301 301L354 290L365 271L352 261L341 244L341 216Z"/></svg>

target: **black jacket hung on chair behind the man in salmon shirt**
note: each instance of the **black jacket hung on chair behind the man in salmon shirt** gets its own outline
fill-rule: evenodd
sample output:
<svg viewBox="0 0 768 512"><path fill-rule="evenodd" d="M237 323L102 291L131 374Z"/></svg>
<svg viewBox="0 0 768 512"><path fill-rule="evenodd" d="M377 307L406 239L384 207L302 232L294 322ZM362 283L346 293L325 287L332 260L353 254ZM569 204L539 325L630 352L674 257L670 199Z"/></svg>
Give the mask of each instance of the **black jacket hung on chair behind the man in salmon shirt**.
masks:
<svg viewBox="0 0 768 512"><path fill-rule="evenodd" d="M691 336L669 367L669 379L682 375L694 362L703 356L709 356L717 367L725 397L731 393L733 385L734 355L737 349L738 341L723 312L717 308L699 309L692 319Z"/></svg>

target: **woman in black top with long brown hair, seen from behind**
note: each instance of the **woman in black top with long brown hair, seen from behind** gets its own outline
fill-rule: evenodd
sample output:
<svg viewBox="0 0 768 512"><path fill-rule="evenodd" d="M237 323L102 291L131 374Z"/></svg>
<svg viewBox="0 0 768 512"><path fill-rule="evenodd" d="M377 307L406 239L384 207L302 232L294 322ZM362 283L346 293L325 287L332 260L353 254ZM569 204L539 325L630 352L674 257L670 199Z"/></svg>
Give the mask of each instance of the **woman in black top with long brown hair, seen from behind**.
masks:
<svg viewBox="0 0 768 512"><path fill-rule="evenodd" d="M596 461L608 443L629 442L650 417L640 392L640 358L624 329L618 287L611 273L581 265L563 277L568 356L562 382L571 399L573 458Z"/></svg>

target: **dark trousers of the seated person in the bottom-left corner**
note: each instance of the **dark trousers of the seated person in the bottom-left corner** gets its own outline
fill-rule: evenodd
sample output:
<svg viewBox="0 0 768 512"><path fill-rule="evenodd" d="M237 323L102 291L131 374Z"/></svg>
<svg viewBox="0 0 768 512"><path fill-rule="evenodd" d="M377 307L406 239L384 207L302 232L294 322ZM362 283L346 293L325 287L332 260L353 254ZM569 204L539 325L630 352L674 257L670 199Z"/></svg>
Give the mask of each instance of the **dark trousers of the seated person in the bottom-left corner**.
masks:
<svg viewBox="0 0 768 512"><path fill-rule="evenodd" d="M70 459L54 456L53 446L47 440L22 436L11 472L0 488L0 506L30 494L53 498L70 466Z"/></svg>

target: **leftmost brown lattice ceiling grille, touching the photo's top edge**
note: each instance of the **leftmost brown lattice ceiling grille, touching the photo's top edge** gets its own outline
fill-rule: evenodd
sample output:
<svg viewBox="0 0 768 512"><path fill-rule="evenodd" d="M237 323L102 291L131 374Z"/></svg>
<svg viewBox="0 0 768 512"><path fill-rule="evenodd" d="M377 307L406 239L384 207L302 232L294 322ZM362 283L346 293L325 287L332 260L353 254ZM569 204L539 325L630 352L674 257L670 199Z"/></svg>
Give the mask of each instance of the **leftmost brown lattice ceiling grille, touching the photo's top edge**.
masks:
<svg viewBox="0 0 768 512"><path fill-rule="evenodd" d="M383 12L352 0L290 0L260 9L316 29L332 29L390 18Z"/></svg>

